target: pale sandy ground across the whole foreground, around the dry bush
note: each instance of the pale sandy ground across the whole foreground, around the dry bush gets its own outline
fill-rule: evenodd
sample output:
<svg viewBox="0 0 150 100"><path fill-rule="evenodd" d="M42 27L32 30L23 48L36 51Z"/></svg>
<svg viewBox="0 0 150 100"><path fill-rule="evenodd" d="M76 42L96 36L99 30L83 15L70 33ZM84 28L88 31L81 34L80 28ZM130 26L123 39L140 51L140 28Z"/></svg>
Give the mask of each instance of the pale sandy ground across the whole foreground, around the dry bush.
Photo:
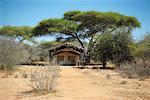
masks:
<svg viewBox="0 0 150 100"><path fill-rule="evenodd" d="M42 96L28 93L28 78L0 77L0 100L150 100L150 79L122 78L113 70L61 68L57 92Z"/></svg>

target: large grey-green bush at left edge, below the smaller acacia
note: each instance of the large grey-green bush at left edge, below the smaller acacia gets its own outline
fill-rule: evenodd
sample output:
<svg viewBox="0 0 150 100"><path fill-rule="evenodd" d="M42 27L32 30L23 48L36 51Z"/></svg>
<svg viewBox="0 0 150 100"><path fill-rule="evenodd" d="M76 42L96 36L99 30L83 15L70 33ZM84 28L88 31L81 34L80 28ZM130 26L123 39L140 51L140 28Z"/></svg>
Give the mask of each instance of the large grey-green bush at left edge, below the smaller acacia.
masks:
<svg viewBox="0 0 150 100"><path fill-rule="evenodd" d="M23 44L13 39L0 37L0 67L12 70L15 65L25 62L29 57Z"/></svg>

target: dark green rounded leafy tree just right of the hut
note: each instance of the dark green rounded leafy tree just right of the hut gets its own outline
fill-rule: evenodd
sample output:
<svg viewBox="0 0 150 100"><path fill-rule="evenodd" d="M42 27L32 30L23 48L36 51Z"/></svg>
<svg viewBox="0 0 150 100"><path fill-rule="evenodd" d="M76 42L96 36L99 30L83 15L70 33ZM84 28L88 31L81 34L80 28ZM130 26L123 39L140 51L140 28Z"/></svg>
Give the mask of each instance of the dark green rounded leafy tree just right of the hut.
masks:
<svg viewBox="0 0 150 100"><path fill-rule="evenodd" d="M130 46L132 45L132 38L128 33L105 33L96 39L96 45L93 49L93 57L96 60L103 62L106 66L107 61L112 61L117 65L132 61Z"/></svg>

